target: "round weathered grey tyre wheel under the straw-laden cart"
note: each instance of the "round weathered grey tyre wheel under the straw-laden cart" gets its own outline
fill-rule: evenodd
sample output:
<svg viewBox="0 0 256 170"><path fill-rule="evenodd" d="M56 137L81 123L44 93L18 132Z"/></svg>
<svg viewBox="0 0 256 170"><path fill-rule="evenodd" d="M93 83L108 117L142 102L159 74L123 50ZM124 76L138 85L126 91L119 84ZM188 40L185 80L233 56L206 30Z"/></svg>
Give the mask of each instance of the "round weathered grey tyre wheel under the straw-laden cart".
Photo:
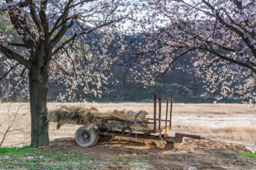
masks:
<svg viewBox="0 0 256 170"><path fill-rule="evenodd" d="M86 126L79 127L76 131L76 143L82 147L90 147L97 143L99 134L93 129L88 129Z"/></svg>

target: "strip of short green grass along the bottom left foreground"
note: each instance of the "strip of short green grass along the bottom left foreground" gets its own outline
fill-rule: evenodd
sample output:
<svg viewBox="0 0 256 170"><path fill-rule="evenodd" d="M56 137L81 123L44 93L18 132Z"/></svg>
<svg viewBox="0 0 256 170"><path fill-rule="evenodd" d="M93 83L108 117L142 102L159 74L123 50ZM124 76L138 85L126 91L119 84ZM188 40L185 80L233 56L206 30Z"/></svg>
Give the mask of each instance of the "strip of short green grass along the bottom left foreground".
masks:
<svg viewBox="0 0 256 170"><path fill-rule="evenodd" d="M100 160L88 153L65 153L35 148L0 148L0 169L118 169L143 167L147 159L116 157L118 162ZM115 160L116 160L115 159Z"/></svg>

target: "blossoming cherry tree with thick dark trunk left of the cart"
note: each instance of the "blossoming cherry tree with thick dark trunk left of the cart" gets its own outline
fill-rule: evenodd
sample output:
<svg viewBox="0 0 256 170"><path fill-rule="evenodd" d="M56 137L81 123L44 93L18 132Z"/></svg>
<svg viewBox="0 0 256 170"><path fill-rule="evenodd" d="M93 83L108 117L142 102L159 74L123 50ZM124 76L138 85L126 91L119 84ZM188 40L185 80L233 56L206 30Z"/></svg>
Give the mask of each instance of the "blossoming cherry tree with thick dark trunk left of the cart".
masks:
<svg viewBox="0 0 256 170"><path fill-rule="evenodd" d="M110 75L111 58L93 53L97 37L111 36L120 22L131 18L130 1L122 0L6 0L0 2L1 22L12 23L0 30L3 78L15 77L29 91L31 146L49 144L47 89L49 83L65 83L72 92L93 86L93 92ZM95 36L92 42L91 36ZM98 44L99 45L99 44ZM104 43L106 48L108 42ZM92 48L93 49L93 48ZM95 69L97 67L97 69Z"/></svg>

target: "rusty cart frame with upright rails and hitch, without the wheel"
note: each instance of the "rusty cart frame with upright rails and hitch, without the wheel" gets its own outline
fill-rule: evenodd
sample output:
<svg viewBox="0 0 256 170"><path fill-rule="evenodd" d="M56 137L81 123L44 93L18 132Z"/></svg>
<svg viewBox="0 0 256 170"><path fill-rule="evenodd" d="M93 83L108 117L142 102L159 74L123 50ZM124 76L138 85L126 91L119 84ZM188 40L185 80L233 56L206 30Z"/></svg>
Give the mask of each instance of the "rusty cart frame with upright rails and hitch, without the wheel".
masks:
<svg viewBox="0 0 256 170"><path fill-rule="evenodd" d="M157 100L159 105L158 118L157 118ZM166 101L165 119L161 118L162 101ZM127 127L124 127L123 129L116 129L115 131L106 131L106 129L108 128L105 127L104 122L102 122L102 125L99 126L99 134L109 135L109 136L121 136L121 137L127 137L127 138L140 138L140 139L153 139L153 140L159 140L159 141L166 141L166 148L173 148L174 142L182 143L184 137L202 139L200 136L197 136L197 135L181 134L181 133L175 133L175 136L168 136L168 131L172 129L172 104L173 104L173 97L171 98L157 97L157 94L155 92L153 118L147 118L147 122L140 122L136 120L123 120L118 118L108 118L105 120L127 122ZM170 112L168 112L169 105L170 105ZM157 126L157 122L158 122L158 126ZM161 127L161 122L164 122L163 127ZM148 132L132 132L130 131L131 129L129 128L132 123L152 124L154 126L154 129L148 130ZM164 134L162 134L163 131L165 131Z"/></svg>

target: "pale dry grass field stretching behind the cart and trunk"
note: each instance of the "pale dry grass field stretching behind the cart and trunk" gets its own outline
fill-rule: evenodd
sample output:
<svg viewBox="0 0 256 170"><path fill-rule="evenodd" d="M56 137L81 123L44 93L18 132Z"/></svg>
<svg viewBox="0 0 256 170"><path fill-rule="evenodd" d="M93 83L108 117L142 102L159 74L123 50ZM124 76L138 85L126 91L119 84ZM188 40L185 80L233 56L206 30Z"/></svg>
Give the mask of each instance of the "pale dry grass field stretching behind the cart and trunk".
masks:
<svg viewBox="0 0 256 170"><path fill-rule="evenodd" d="M67 103L74 105L77 103ZM87 103L89 106L96 106L99 111L108 110L133 110L148 111L152 117L152 103ZM48 109L59 107L60 103L49 103ZM28 103L4 103L0 105L0 130L4 132L8 122L8 108L19 115L26 114L17 122L15 129L10 132L3 146L24 145L29 143L30 138L30 116ZM255 152L256 146L256 110L244 104L173 104L173 129L174 132L186 132L198 134L204 138L218 139L232 143L239 143ZM56 124L51 123L49 136L51 140L57 138L73 137L77 125L64 125L56 130ZM2 133L0 135L3 135ZM1 136L0 136L1 139Z"/></svg>

